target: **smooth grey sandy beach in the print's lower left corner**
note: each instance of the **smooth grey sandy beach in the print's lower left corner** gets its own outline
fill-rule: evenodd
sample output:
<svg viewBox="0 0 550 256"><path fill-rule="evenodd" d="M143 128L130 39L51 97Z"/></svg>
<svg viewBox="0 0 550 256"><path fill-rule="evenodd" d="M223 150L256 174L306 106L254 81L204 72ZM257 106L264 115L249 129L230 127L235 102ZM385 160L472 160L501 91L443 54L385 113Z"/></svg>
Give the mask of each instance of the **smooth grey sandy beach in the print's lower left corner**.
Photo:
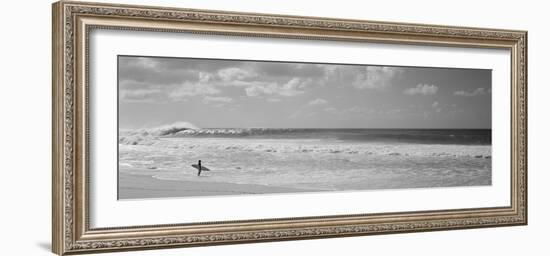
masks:
<svg viewBox="0 0 550 256"><path fill-rule="evenodd" d="M129 170L131 172L150 172L150 170ZM201 177L197 177L201 178ZM311 190L307 190L311 192ZM166 198L189 196L220 196L268 193L304 192L295 188L235 184L209 181L161 180L149 174L131 174L119 172L119 199Z"/></svg>

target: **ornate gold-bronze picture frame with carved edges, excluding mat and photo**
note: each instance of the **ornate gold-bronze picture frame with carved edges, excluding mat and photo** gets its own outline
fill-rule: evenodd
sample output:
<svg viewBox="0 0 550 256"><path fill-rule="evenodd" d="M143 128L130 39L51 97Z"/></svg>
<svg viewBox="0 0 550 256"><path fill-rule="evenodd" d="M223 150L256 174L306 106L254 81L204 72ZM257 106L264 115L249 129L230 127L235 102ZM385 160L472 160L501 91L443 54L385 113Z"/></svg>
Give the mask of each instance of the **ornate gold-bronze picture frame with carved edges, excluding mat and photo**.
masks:
<svg viewBox="0 0 550 256"><path fill-rule="evenodd" d="M98 29L509 50L510 205L92 228L88 46ZM59 255L527 224L526 31L71 1L53 4L52 31L52 248Z"/></svg>

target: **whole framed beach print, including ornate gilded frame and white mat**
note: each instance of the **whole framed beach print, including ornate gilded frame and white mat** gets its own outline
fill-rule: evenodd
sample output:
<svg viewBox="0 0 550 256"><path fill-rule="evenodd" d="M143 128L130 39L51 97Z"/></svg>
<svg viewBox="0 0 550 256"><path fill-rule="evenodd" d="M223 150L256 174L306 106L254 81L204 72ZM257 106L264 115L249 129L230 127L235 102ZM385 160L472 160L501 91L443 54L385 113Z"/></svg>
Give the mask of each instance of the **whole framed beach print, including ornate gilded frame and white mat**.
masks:
<svg viewBox="0 0 550 256"><path fill-rule="evenodd" d="M53 251L527 224L527 32L61 1Z"/></svg>

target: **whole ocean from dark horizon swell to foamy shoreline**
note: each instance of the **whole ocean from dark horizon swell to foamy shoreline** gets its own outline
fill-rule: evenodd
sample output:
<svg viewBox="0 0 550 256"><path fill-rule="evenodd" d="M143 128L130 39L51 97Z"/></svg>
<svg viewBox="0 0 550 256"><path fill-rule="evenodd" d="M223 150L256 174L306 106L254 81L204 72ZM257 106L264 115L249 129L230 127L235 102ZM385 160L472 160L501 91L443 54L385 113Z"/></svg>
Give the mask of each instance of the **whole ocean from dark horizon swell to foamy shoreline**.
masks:
<svg viewBox="0 0 550 256"><path fill-rule="evenodd" d="M211 170L200 177L191 167L198 160ZM120 130L119 171L303 191L485 186L491 185L491 130Z"/></svg>

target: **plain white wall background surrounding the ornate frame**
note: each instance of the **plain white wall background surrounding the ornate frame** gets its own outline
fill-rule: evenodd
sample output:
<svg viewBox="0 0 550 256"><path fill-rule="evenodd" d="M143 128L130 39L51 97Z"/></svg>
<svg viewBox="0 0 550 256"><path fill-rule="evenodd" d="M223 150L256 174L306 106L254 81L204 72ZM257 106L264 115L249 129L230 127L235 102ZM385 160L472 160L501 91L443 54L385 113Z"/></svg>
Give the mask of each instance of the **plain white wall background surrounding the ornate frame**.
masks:
<svg viewBox="0 0 550 256"><path fill-rule="evenodd" d="M111 2L101 0L105 2ZM529 31L529 225L112 255L548 255L550 24L545 1L202 0L121 3ZM3 3L0 30L1 255L51 255L50 1Z"/></svg>

